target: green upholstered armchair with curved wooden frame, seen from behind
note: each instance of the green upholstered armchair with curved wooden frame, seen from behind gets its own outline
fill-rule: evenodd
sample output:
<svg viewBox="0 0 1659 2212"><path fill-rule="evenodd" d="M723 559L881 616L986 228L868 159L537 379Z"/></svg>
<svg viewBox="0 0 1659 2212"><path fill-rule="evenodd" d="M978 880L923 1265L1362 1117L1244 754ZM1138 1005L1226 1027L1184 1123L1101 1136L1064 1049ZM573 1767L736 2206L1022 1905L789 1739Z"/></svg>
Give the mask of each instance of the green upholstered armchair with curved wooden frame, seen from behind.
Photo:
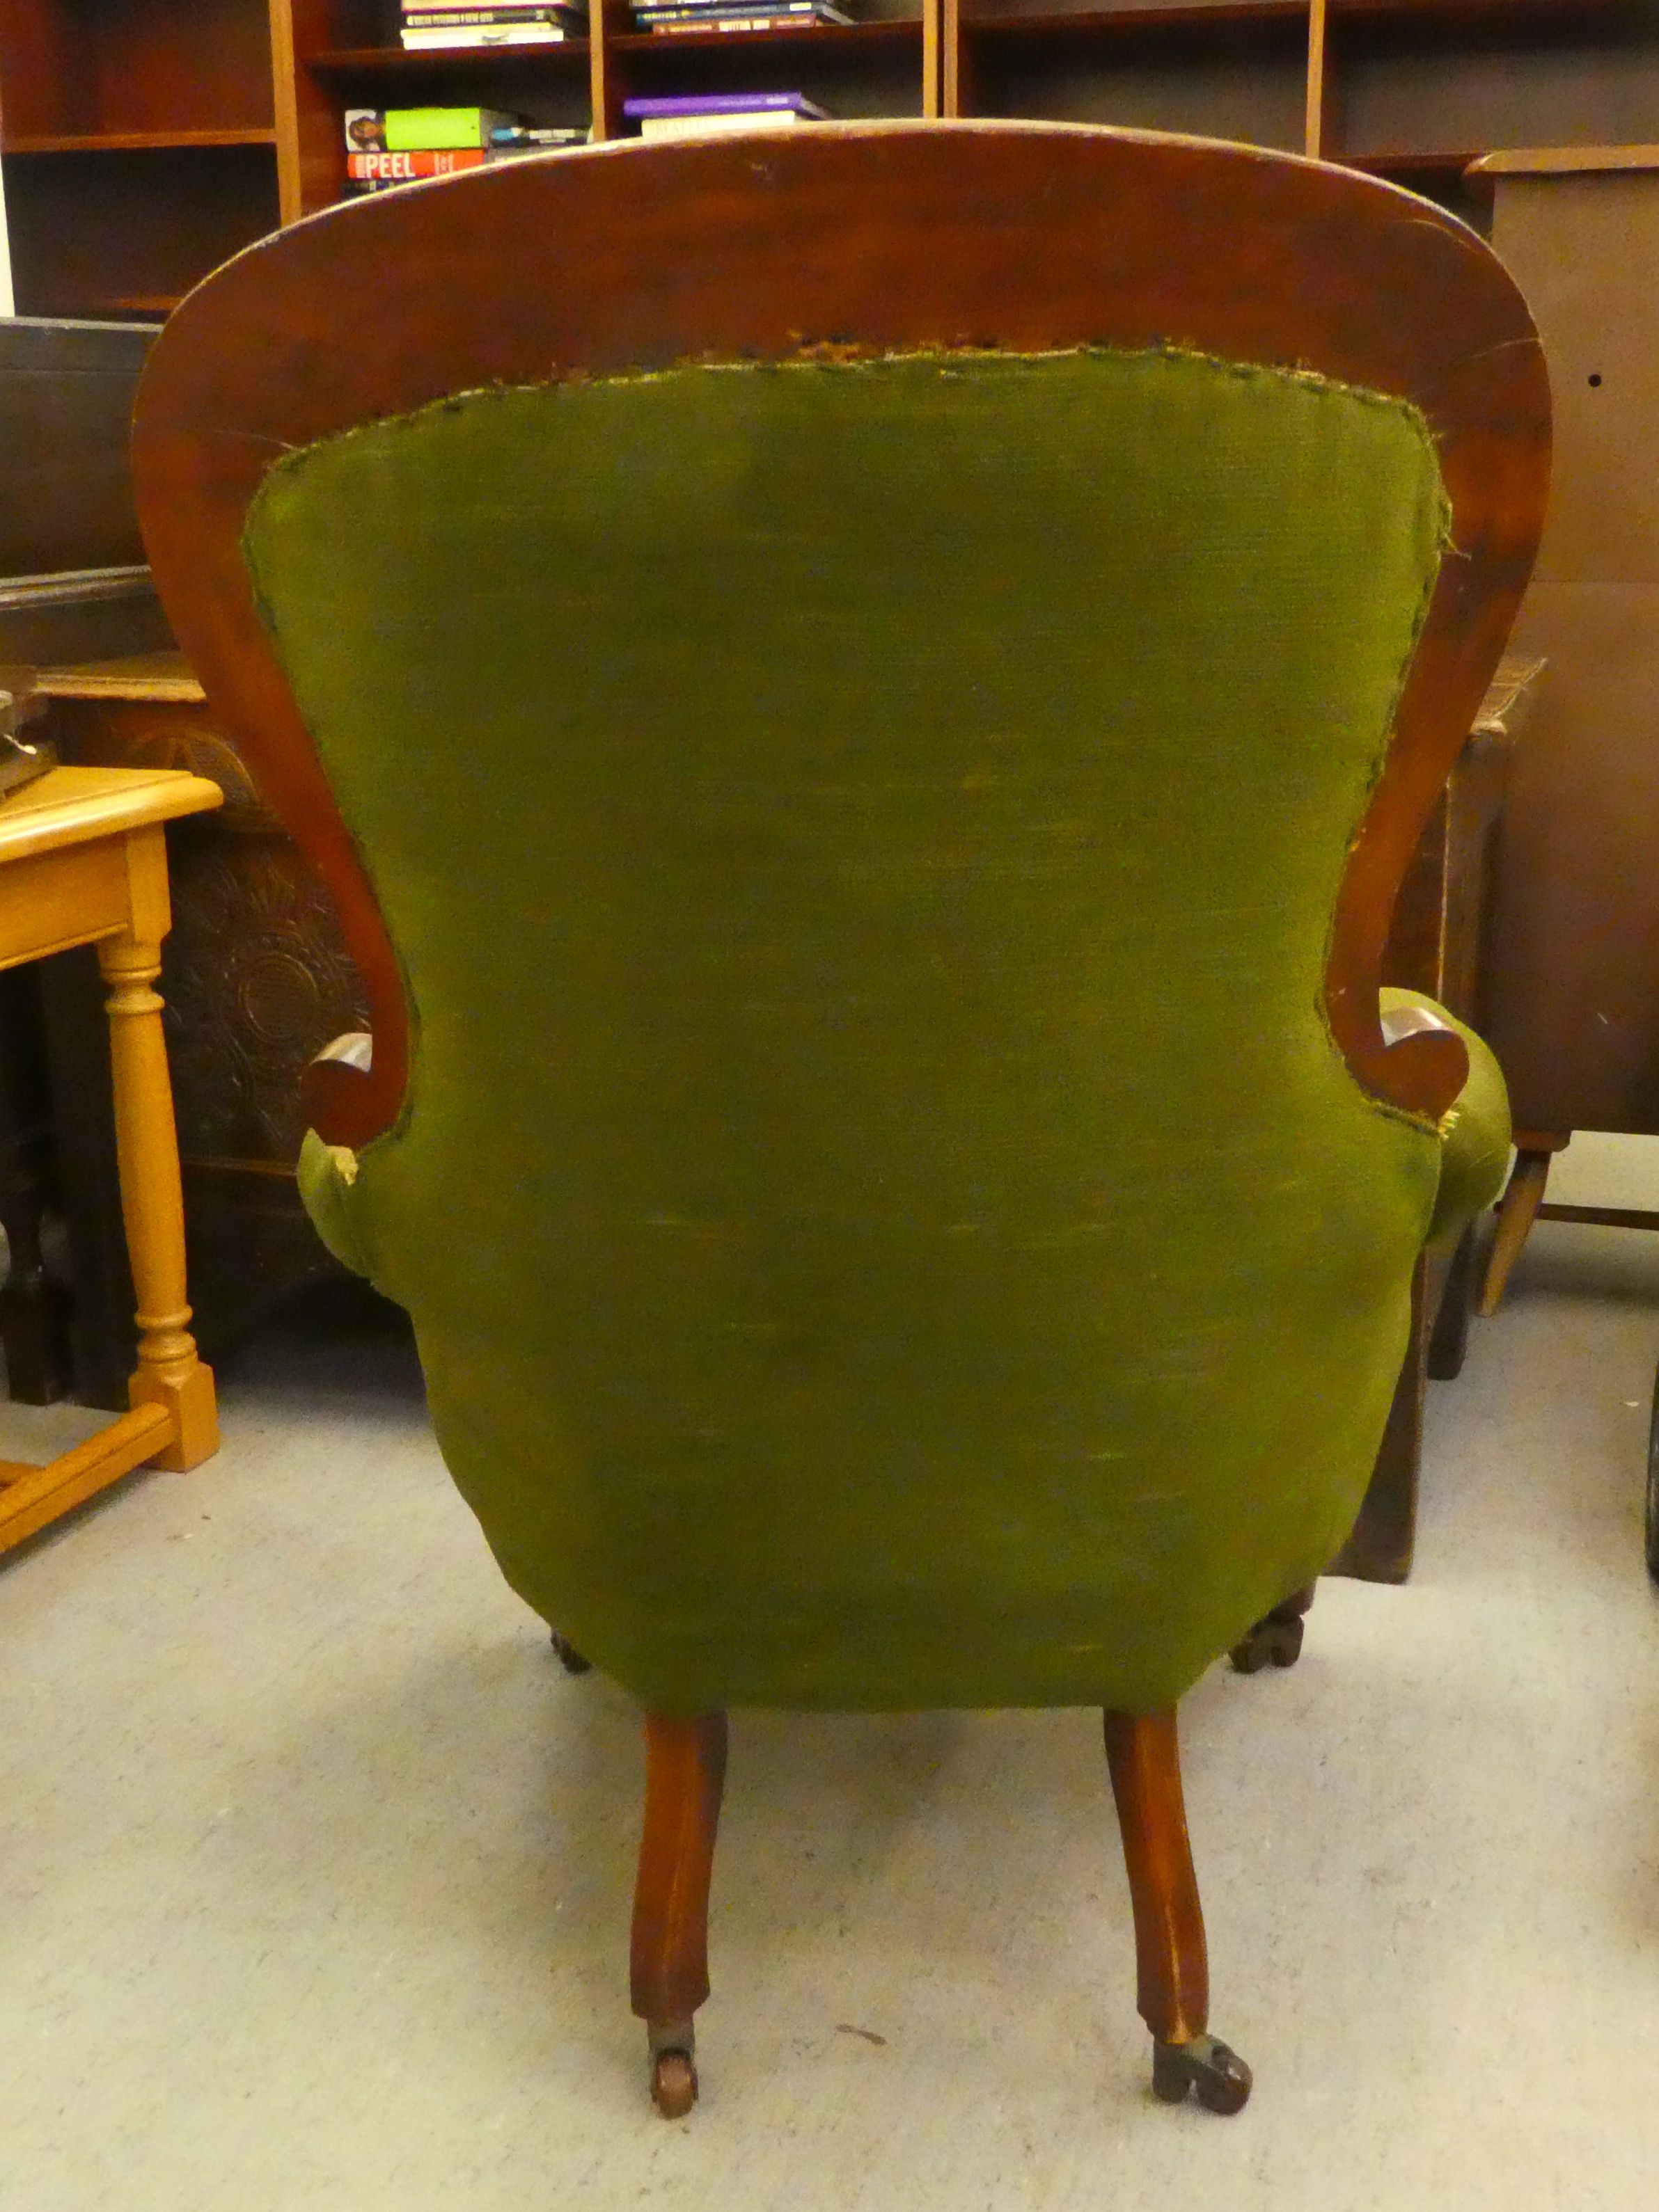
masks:
<svg viewBox="0 0 1659 2212"><path fill-rule="evenodd" d="M1088 1703L1152 2086L1237 2110L1175 1708L1343 1542L1506 1144L1378 958L1540 529L1509 276L1199 142L608 146L241 254L135 456L374 1004L316 1225L646 1714L657 2104L730 1705Z"/></svg>

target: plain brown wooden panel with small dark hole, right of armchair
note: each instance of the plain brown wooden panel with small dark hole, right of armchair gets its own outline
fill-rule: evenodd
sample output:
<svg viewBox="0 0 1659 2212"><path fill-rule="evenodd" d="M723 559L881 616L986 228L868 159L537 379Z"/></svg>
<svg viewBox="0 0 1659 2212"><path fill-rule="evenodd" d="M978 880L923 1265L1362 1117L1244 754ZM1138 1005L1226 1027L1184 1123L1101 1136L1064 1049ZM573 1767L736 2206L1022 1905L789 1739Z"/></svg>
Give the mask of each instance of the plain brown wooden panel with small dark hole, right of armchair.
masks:
<svg viewBox="0 0 1659 2212"><path fill-rule="evenodd" d="M1659 166L1495 166L1544 336L1555 491L1515 641L1548 657L1486 1031L1524 1128L1659 1135Z"/></svg>

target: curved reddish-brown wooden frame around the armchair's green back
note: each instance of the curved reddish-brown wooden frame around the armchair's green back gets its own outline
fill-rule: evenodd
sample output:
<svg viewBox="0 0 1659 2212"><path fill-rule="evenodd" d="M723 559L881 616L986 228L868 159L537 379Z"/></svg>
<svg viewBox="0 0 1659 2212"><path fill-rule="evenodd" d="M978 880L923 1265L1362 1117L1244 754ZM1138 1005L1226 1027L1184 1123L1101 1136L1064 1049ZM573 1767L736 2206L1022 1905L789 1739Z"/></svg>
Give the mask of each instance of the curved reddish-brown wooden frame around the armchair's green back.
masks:
<svg viewBox="0 0 1659 2212"><path fill-rule="evenodd" d="M814 124L613 144L411 186L226 263L159 338L135 484L208 703L334 894L374 1064L325 1137L398 1113L407 1011L369 880L254 613L239 540L281 453L449 392L860 347L1188 345L1413 400L1440 442L1447 557L1396 739L1343 883L1332 1031L1376 1097L1440 1115L1455 1035L1387 1044L1394 898L1526 586L1548 491L1548 380L1482 241L1352 170L1203 139L1055 124Z"/></svg>

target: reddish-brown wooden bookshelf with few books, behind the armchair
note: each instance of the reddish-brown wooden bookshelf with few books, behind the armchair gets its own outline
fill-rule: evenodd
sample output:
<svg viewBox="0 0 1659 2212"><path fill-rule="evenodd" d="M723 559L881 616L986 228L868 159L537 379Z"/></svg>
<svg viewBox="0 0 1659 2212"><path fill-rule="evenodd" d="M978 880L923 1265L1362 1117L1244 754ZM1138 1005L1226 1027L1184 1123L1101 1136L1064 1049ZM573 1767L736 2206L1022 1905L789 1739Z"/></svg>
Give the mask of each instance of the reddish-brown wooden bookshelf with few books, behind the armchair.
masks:
<svg viewBox="0 0 1659 2212"><path fill-rule="evenodd" d="M396 0L0 0L22 314L155 316L338 199L347 106L622 131L630 95L799 88L834 115L1024 115L1237 137L1482 219L1493 148L1659 139L1659 0L847 0L852 27L405 53ZM1486 188L1489 190L1489 188Z"/></svg>

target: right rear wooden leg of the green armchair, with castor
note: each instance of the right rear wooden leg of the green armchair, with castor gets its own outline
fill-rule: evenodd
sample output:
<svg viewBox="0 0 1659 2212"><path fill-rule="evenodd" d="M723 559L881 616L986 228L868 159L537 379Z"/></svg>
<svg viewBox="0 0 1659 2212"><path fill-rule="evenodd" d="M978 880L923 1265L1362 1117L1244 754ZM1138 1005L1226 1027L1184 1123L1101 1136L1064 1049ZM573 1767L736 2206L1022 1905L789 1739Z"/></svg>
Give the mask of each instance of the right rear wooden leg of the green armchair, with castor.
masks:
<svg viewBox="0 0 1659 2212"><path fill-rule="evenodd" d="M1152 2095L1181 2104L1192 2090L1210 2112L1241 2112L1250 2068L1208 2033L1210 1960L1175 1712L1108 1712L1106 1767L1135 1905L1137 2004L1152 2031Z"/></svg>

